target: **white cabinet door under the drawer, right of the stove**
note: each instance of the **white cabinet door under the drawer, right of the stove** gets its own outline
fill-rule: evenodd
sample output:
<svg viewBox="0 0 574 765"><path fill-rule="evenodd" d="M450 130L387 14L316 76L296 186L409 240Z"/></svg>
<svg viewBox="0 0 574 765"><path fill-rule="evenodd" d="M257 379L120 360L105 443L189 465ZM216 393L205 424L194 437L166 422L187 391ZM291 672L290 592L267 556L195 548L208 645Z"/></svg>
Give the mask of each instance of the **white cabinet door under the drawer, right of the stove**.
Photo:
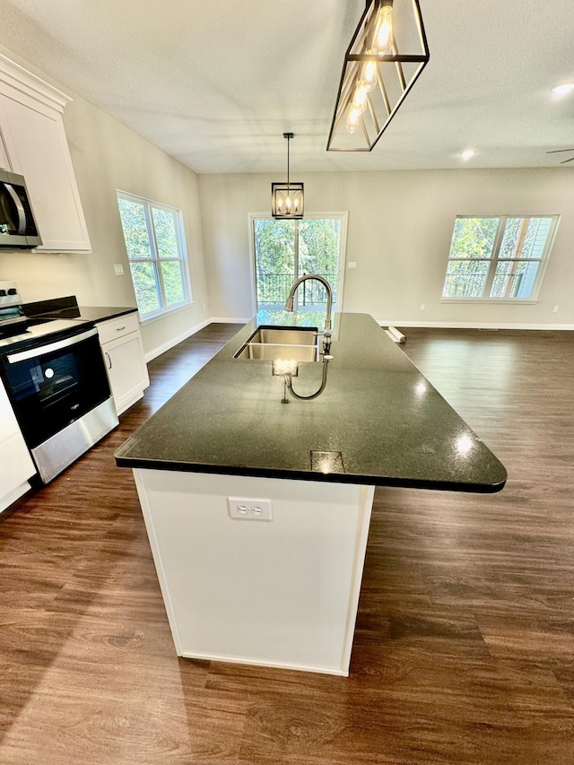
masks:
<svg viewBox="0 0 574 765"><path fill-rule="evenodd" d="M101 346L108 369L109 387L111 387L116 411L125 412L143 396L143 390L149 386L150 378L143 356L142 335L132 332L118 337Z"/></svg>

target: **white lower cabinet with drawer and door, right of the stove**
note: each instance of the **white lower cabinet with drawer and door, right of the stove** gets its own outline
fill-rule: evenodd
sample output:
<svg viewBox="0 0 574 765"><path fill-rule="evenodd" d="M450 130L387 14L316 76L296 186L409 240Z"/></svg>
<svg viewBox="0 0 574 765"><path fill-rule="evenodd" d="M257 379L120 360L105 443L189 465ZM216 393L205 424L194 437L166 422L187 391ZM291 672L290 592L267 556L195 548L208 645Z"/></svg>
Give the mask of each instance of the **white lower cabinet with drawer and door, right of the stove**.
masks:
<svg viewBox="0 0 574 765"><path fill-rule="evenodd" d="M126 411L150 384L137 313L98 324L101 352L117 414Z"/></svg>

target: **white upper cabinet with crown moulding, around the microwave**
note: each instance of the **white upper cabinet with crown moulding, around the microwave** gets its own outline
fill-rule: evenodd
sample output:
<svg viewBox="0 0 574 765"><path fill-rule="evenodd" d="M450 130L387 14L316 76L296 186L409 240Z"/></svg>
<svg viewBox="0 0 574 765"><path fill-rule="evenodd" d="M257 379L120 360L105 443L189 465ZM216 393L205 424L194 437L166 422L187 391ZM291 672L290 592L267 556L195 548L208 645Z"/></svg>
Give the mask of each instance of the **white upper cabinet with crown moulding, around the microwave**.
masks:
<svg viewBox="0 0 574 765"><path fill-rule="evenodd" d="M0 166L26 178L39 251L91 249L62 119L70 100L0 55Z"/></svg>

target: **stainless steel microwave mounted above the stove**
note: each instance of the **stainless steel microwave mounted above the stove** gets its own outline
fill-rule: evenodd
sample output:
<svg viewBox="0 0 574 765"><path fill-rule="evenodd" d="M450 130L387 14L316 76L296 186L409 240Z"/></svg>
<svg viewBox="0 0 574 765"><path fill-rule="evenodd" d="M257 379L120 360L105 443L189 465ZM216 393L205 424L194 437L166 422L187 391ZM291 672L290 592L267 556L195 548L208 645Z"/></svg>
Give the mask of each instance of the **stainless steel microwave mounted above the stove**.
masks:
<svg viewBox="0 0 574 765"><path fill-rule="evenodd" d="M30 249L41 243L24 177L0 170L0 248Z"/></svg>

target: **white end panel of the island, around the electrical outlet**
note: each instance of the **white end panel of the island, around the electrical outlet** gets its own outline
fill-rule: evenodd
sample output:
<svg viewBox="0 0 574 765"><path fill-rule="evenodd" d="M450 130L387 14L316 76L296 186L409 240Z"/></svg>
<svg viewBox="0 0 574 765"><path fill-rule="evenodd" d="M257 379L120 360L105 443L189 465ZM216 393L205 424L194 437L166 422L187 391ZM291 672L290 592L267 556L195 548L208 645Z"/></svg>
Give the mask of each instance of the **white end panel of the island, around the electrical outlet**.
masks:
<svg viewBox="0 0 574 765"><path fill-rule="evenodd" d="M134 476L179 656L349 674L373 487ZM232 518L228 497L273 519Z"/></svg>

